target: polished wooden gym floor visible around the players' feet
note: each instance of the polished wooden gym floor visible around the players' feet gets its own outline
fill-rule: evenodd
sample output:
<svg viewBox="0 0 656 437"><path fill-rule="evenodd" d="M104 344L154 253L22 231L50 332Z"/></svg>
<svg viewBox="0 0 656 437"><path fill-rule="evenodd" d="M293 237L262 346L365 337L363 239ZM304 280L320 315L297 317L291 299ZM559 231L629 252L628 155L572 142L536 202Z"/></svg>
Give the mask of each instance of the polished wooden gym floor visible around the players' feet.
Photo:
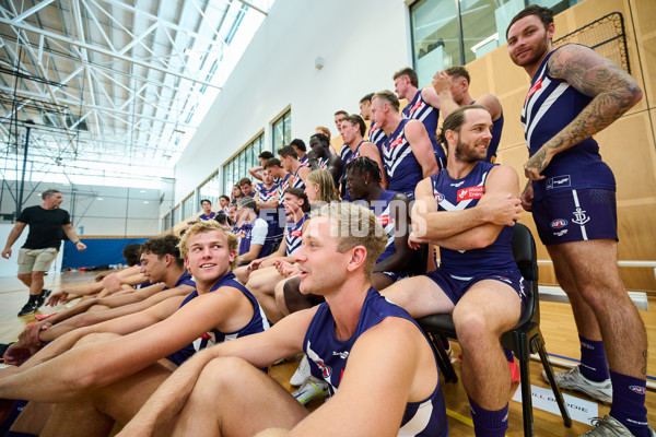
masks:
<svg viewBox="0 0 656 437"><path fill-rule="evenodd" d="M90 272L66 272L61 276L46 276L46 287L59 290L65 284L91 281L93 273ZM0 277L0 342L7 343L16 339L26 323L34 321L32 316L16 317L21 307L27 299L26 287L16 279ZM569 305L560 303L540 303L541 306L541 330L547 342L547 351L552 358L561 363L575 363L578 354L578 338L574 324L574 318ZM56 311L55 308L52 311ZM48 314L49 307L42 307L42 314ZM649 311L641 312L647 336L649 341L649 358L647 373L649 381L656 383L656 298L649 297ZM630 341L630 339L628 339ZM454 349L458 351L457 344ZM454 364L459 374L459 362ZM284 363L274 366L272 376L290 391L293 391L289 385L289 379L296 368L295 362ZM531 362L530 377L531 383L537 387L548 388L540 377L541 365L539 362ZM450 436L472 436L473 429L469 415L469 404L467 395L461 383L443 383L444 395L448 414ZM577 393L567 392L566 394L584 399ZM365 395L365 394L363 394ZM309 409L315 409L323 403L323 400L315 400L309 404ZM656 390L647 391L647 409L649 410L649 423L656 427ZM599 405L599 415L608 413L608 408ZM589 426L574 422L571 429L563 426L560 415L534 409L536 436L578 436L589 429ZM522 404L515 401L509 402L509 424L507 436L523 436L522 428Z"/></svg>

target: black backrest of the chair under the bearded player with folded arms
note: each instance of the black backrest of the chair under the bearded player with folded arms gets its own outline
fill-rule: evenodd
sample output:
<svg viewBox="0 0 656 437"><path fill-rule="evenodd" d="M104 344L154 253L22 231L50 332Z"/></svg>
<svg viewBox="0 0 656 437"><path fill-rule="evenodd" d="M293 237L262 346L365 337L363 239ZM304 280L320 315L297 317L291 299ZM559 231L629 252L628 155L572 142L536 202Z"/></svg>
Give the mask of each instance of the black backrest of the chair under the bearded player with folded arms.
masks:
<svg viewBox="0 0 656 437"><path fill-rule="evenodd" d="M540 308L538 296L538 255L536 250L536 241L532 234L522 223L515 223L512 237L513 256L515 262L522 272L522 275L528 283L526 290L527 306L519 319L519 323L532 320L536 323L540 322Z"/></svg>

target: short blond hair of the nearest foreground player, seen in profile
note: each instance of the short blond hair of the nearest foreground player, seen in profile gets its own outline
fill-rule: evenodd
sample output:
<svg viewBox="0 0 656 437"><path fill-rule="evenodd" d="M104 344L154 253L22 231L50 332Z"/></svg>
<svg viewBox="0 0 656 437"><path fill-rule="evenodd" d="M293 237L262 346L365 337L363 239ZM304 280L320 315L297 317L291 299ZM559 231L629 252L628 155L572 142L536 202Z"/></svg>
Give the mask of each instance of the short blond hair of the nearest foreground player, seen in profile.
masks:
<svg viewBox="0 0 656 437"><path fill-rule="evenodd" d="M364 273L367 277L372 275L376 260L387 246L387 234L370 209L354 203L332 202L314 211L311 217L331 220L330 236L337 238L337 250L340 253L356 246L364 247Z"/></svg>

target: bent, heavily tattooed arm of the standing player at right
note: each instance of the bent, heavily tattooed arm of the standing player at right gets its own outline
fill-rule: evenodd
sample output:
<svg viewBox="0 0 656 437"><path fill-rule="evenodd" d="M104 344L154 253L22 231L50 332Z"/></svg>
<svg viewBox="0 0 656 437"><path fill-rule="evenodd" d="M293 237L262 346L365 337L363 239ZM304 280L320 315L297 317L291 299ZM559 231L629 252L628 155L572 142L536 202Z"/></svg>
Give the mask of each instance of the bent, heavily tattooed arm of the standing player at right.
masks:
<svg viewBox="0 0 656 437"><path fill-rule="evenodd" d="M559 48L547 64L551 76L594 97L563 130L547 141L524 165L526 177L544 179L540 173L551 158L610 126L642 98L637 83L612 61L595 50L567 45Z"/></svg>

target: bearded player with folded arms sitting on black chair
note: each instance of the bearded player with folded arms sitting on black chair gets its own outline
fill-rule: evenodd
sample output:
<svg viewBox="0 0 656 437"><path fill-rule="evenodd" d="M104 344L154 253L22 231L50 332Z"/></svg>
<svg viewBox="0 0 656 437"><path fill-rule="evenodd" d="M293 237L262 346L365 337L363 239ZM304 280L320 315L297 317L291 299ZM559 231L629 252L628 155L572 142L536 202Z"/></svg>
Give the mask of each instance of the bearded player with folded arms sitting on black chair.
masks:
<svg viewBox="0 0 656 437"><path fill-rule="evenodd" d="M519 320L525 281L511 247L519 182L511 167L485 163L492 119L480 105L453 111L442 128L446 168L417 186L411 247L440 246L440 268L382 294L412 317L453 314L462 347L462 385L477 436L504 436L511 373L501 335Z"/></svg>

